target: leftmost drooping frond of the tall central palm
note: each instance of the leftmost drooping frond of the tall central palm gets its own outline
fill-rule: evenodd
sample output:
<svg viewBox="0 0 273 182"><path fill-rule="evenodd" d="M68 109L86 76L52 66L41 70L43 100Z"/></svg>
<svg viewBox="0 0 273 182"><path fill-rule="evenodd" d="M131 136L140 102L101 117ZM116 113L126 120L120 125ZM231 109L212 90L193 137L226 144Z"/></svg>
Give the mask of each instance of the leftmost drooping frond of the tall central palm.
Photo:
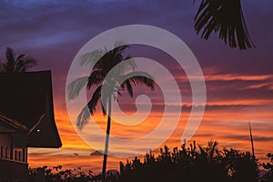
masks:
<svg viewBox="0 0 273 182"><path fill-rule="evenodd" d="M68 92L69 100L74 99L79 95L81 89L86 86L87 80L88 76L79 77L67 86L66 91Z"/></svg>

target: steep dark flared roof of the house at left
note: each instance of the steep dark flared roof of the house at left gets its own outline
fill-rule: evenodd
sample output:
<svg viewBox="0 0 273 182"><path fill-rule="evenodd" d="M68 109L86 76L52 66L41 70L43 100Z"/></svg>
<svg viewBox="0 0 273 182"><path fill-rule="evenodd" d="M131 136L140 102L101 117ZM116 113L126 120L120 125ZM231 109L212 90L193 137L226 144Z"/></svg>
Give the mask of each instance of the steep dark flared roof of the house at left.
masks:
<svg viewBox="0 0 273 182"><path fill-rule="evenodd" d="M61 147L50 71L1 73L0 112L26 126L28 147Z"/></svg>

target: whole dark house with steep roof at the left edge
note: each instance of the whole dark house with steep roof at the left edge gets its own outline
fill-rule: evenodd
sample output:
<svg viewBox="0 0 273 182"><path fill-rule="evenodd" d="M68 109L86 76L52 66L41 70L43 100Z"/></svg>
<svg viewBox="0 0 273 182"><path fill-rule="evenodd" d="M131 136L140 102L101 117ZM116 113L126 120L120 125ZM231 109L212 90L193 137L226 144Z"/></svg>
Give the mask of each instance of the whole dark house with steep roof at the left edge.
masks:
<svg viewBox="0 0 273 182"><path fill-rule="evenodd" d="M0 181L28 181L27 147L61 147L50 71L0 74Z"/></svg>

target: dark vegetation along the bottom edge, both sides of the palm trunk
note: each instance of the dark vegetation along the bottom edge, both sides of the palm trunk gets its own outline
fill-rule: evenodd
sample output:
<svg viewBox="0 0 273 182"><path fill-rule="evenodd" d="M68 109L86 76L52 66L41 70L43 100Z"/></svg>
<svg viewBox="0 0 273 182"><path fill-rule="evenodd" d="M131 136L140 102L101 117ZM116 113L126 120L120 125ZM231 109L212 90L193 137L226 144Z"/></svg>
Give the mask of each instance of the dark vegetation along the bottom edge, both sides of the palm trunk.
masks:
<svg viewBox="0 0 273 182"><path fill-rule="evenodd" d="M160 149L155 157L147 154L142 160L135 157L126 163L120 162L120 172L108 171L106 181L188 181L188 182L273 182L273 154L268 154L268 163L260 164L249 152L224 148L218 150L217 142L208 142L207 147L195 142L189 147ZM80 167L62 170L61 166L30 168L30 181L101 181L101 175L91 171L84 173Z"/></svg>

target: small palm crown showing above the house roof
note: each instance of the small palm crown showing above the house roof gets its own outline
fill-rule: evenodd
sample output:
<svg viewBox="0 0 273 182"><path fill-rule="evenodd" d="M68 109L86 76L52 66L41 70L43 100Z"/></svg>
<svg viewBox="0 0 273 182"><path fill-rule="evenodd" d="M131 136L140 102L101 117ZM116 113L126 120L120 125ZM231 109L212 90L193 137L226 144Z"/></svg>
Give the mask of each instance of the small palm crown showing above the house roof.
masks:
<svg viewBox="0 0 273 182"><path fill-rule="evenodd" d="M2 73L26 72L37 64L34 58L27 57L24 54L16 57L14 50L10 47L6 47L5 58L5 63L0 61L0 72Z"/></svg>

